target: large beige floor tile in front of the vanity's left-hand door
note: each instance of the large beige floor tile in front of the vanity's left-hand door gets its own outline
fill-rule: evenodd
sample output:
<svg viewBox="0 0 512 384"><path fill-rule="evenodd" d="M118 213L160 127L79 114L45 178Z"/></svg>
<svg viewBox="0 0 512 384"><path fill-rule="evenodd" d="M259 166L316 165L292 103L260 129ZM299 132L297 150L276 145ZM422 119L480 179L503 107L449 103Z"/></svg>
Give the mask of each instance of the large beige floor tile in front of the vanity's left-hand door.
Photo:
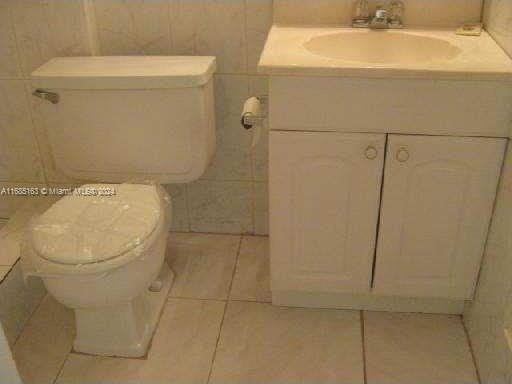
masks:
<svg viewBox="0 0 512 384"><path fill-rule="evenodd" d="M363 383L356 311L229 302L211 383Z"/></svg>

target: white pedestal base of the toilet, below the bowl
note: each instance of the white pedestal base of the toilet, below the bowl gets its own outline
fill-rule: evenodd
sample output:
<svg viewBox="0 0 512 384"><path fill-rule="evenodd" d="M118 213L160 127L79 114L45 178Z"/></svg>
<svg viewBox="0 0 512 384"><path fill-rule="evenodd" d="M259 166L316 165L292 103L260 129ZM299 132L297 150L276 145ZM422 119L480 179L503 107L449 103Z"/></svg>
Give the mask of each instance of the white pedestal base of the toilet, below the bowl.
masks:
<svg viewBox="0 0 512 384"><path fill-rule="evenodd" d="M162 282L159 291L147 289L129 303L75 309L77 335L73 349L101 356L144 356L174 280L165 261L158 280Z"/></svg>

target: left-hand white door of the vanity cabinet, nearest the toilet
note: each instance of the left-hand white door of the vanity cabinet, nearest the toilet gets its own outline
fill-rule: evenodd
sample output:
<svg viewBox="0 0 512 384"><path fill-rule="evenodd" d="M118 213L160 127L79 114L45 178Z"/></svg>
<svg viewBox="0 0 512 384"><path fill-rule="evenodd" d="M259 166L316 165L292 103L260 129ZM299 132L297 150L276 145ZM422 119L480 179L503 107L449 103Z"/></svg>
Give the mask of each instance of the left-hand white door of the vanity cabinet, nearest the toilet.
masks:
<svg viewBox="0 0 512 384"><path fill-rule="evenodd" d="M273 290L369 290L385 140L270 133Z"/></svg>

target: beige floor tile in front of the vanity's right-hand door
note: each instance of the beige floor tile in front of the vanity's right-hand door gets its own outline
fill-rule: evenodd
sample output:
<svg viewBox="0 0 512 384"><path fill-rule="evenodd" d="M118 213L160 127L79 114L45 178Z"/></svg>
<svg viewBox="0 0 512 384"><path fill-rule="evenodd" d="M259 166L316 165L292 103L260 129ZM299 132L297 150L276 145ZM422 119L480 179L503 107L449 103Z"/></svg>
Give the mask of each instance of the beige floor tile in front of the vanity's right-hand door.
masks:
<svg viewBox="0 0 512 384"><path fill-rule="evenodd" d="M458 316L364 313L368 384L477 384Z"/></svg>

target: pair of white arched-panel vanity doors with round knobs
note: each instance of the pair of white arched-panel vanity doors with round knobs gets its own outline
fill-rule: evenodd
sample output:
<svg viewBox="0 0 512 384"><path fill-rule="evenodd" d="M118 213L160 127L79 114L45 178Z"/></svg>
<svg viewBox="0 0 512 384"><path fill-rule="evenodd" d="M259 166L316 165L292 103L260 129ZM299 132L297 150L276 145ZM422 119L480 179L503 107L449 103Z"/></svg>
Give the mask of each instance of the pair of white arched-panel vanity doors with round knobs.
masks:
<svg viewBox="0 0 512 384"><path fill-rule="evenodd" d="M271 131L273 292L471 298L505 145Z"/></svg>

